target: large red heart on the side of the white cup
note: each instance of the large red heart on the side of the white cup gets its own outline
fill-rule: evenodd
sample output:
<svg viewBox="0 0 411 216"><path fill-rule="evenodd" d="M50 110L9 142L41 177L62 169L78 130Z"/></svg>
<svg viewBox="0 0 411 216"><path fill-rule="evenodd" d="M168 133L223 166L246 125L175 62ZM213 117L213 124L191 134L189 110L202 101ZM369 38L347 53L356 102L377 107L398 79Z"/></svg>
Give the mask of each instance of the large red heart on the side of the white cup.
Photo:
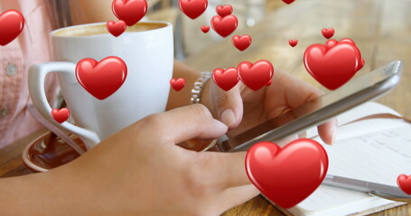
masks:
<svg viewBox="0 0 411 216"><path fill-rule="evenodd" d="M79 85L99 100L114 94L126 81L126 76L126 63L113 56L99 62L93 58L83 58L76 66Z"/></svg>

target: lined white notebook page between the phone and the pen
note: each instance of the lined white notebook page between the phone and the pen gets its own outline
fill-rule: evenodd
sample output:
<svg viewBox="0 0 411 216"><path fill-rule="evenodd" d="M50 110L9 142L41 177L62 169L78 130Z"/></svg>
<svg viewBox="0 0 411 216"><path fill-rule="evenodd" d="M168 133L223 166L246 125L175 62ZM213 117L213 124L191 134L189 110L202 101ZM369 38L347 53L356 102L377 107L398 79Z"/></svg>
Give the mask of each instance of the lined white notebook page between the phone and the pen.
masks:
<svg viewBox="0 0 411 216"><path fill-rule="evenodd" d="M411 173L411 124L325 146L328 174L397 185L397 175Z"/></svg>

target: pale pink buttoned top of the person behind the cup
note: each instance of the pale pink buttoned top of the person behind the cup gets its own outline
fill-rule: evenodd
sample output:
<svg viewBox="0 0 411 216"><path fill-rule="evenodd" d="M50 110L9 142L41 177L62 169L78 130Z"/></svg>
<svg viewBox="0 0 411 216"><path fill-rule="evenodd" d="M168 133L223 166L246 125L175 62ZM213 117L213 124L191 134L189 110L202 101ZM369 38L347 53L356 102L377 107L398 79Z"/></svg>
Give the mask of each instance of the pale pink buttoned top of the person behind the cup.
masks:
<svg viewBox="0 0 411 216"><path fill-rule="evenodd" d="M14 9L25 20L22 33L0 46L0 148L42 127L27 110L31 103L27 74L31 65L51 61L51 14L46 3L47 0L0 0L1 13ZM53 98L56 88L52 75L46 80L49 98Z"/></svg>

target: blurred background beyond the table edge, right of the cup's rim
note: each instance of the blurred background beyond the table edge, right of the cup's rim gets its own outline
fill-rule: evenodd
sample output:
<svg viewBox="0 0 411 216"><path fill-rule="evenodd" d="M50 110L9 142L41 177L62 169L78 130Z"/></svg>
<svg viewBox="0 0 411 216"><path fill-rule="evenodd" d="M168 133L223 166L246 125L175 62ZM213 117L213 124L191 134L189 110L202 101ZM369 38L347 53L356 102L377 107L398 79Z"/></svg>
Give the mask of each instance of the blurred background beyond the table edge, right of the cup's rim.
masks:
<svg viewBox="0 0 411 216"><path fill-rule="evenodd" d="M266 17L267 13L286 5L281 0L209 0L204 14L195 20L182 14L178 0L149 0L150 11L147 16L150 20L162 20L173 23L175 32L175 58L184 59L193 53L201 51L211 44L223 40L220 35L210 29L203 33L201 25L210 25L210 20L216 14L218 5L230 4L233 13L238 18L238 29L241 31L256 25Z"/></svg>

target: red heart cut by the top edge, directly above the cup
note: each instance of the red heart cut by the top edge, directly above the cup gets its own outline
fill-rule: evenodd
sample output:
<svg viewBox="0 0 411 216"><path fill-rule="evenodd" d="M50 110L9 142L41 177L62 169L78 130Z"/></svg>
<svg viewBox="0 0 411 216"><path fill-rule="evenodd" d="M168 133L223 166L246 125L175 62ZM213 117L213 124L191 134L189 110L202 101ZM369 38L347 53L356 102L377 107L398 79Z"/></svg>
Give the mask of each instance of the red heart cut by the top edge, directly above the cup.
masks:
<svg viewBox="0 0 411 216"><path fill-rule="evenodd" d="M111 9L119 20L123 20L128 26L132 26L145 16L147 1L114 0L113 4L111 4Z"/></svg>

